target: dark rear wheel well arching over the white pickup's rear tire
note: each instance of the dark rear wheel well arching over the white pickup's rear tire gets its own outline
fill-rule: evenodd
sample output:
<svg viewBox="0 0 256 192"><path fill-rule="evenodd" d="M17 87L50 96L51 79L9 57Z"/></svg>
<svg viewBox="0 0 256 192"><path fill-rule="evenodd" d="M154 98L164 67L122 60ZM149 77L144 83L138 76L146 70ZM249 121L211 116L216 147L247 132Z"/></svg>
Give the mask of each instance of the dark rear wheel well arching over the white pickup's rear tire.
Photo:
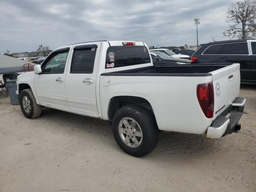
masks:
<svg viewBox="0 0 256 192"><path fill-rule="evenodd" d="M123 106L126 106L128 104L136 104L139 106L142 106L143 108L149 110L152 112L154 116L154 111L152 109L152 106L148 102L148 100L141 98L141 97L135 97L135 96L116 96L111 98L110 104L108 107L108 118L109 120L112 120L114 117L114 114L118 109L120 109Z"/></svg>

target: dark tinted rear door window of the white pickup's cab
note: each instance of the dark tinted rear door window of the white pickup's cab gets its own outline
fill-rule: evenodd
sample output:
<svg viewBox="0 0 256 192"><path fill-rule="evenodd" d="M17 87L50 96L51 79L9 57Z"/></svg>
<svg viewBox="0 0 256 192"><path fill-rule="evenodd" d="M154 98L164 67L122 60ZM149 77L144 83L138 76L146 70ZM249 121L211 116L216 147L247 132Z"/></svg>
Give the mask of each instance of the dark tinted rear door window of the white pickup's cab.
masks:
<svg viewBox="0 0 256 192"><path fill-rule="evenodd" d="M94 68L97 46L77 46L74 48L70 73L91 74Z"/></svg>

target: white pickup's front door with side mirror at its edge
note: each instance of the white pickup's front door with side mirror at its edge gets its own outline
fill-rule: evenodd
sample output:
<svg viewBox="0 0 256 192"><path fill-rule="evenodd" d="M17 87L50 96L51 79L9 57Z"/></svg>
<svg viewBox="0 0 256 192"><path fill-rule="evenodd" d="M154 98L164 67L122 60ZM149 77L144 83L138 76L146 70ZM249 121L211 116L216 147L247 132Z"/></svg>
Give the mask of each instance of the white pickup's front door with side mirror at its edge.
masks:
<svg viewBox="0 0 256 192"><path fill-rule="evenodd" d="M41 65L42 73L35 75L34 84L40 103L69 108L65 76L71 47L52 52Z"/></svg>

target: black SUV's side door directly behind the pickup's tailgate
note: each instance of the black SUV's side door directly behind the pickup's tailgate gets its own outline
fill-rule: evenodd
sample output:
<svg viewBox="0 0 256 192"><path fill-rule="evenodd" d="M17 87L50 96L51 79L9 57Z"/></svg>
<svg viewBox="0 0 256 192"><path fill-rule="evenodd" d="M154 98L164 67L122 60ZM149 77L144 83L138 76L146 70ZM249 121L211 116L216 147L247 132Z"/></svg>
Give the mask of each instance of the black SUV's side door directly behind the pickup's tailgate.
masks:
<svg viewBox="0 0 256 192"><path fill-rule="evenodd" d="M241 81L250 80L251 57L249 56L247 42L225 44L218 63L240 63Z"/></svg>

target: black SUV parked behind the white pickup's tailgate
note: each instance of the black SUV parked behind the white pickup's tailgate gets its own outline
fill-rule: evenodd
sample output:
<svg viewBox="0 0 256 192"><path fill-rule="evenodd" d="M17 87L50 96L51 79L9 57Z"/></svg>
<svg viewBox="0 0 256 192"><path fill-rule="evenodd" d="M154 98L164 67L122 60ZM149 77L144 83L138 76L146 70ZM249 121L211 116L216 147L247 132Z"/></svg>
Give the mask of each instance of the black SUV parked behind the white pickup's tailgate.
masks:
<svg viewBox="0 0 256 192"><path fill-rule="evenodd" d="M240 63L241 82L256 83L256 40L229 40L204 44L192 63Z"/></svg>

